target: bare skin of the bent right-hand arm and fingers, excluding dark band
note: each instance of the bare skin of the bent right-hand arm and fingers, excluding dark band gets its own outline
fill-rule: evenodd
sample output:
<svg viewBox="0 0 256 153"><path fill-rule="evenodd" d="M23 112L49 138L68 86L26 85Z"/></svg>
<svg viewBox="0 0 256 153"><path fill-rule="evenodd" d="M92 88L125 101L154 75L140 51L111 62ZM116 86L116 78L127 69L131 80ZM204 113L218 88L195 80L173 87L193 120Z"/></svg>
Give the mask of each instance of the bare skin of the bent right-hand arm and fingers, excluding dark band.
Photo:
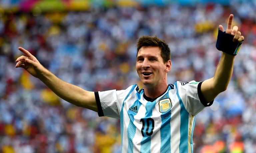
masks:
<svg viewBox="0 0 256 153"><path fill-rule="evenodd" d="M244 37L241 36L237 26L234 26L232 29L233 18L234 16L231 14L228 19L226 34L234 36L234 42L241 42L244 40ZM219 26L219 29L223 32L222 25ZM211 102L219 93L227 89L233 73L234 58L234 55L222 52L214 76L202 83L201 92L207 102Z"/></svg>

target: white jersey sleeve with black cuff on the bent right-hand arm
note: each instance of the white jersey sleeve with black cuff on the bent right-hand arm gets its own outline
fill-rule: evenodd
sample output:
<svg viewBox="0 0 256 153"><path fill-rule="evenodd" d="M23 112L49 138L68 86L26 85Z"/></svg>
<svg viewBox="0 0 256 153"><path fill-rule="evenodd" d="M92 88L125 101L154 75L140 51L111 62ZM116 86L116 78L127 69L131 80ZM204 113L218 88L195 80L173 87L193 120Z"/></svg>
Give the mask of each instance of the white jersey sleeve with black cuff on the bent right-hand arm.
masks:
<svg viewBox="0 0 256 153"><path fill-rule="evenodd" d="M201 85L203 82L176 82L177 92L180 96L184 107L187 112L196 115L202 111L205 107L211 106L213 101L206 102L205 98L201 93Z"/></svg>

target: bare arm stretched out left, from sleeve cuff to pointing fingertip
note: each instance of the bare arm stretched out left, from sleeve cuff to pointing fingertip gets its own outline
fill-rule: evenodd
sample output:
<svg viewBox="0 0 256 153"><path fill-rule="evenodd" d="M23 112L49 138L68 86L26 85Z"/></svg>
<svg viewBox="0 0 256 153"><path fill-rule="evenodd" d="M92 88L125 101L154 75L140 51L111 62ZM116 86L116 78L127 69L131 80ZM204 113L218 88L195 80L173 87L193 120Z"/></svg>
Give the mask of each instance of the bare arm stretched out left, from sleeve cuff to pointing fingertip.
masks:
<svg viewBox="0 0 256 153"><path fill-rule="evenodd" d="M19 47L19 50L26 56L17 58L15 67L24 68L65 101L98 112L94 92L83 90L80 87L62 81L43 67L29 51L22 47Z"/></svg>

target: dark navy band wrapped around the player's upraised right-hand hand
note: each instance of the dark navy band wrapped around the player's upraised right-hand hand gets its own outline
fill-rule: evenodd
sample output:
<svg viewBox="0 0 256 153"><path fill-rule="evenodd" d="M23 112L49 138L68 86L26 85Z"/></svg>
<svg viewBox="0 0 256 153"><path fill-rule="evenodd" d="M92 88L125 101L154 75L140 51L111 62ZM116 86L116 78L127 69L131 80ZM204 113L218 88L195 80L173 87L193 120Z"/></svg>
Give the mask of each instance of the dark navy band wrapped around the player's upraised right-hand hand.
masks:
<svg viewBox="0 0 256 153"><path fill-rule="evenodd" d="M222 32L219 29L216 48L230 55L237 55L244 40L241 42L239 41L234 42L233 38L234 36L230 34L226 34L226 32Z"/></svg>

